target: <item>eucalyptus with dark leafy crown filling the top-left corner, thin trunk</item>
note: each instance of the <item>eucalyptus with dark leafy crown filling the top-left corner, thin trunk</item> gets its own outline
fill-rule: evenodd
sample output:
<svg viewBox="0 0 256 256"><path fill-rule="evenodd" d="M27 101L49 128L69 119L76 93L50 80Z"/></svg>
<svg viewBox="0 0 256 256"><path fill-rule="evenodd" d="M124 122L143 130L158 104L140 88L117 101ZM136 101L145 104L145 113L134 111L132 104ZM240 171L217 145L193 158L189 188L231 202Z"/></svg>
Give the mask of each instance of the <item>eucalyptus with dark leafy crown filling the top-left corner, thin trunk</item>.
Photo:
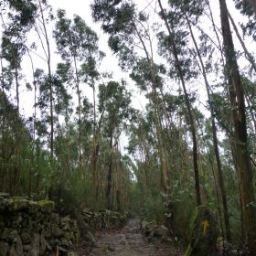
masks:
<svg viewBox="0 0 256 256"><path fill-rule="evenodd" d="M1 37L1 58L9 64L16 84L16 107L19 113L19 80L21 61L27 52L27 32L35 23L37 5L26 1L5 1L0 6L4 31Z"/></svg>

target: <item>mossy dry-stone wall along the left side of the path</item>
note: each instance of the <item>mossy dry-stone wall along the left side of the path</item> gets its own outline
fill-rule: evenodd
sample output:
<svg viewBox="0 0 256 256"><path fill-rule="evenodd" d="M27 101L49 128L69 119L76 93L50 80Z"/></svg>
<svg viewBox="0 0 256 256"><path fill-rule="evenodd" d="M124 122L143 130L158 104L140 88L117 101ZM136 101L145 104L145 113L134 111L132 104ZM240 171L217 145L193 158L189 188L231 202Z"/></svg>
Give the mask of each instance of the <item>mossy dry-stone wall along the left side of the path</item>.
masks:
<svg viewBox="0 0 256 256"><path fill-rule="evenodd" d="M75 219L59 217L53 201L31 201L0 193L0 256L49 255L57 250L69 251L80 241ZM81 212L92 231L122 228L127 214L85 208ZM90 231L88 240L93 240ZM92 237L91 237L92 236Z"/></svg>

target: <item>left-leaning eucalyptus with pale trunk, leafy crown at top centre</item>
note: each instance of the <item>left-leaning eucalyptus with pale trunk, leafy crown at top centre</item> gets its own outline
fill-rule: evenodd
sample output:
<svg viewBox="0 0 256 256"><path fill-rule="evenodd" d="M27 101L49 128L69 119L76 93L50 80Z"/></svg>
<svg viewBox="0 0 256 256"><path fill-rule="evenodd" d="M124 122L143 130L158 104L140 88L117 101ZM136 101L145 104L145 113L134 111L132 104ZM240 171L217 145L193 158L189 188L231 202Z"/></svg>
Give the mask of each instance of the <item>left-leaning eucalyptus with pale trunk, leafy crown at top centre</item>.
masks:
<svg viewBox="0 0 256 256"><path fill-rule="evenodd" d="M162 185L165 192L170 190L169 164L167 149L163 139L163 127L158 109L157 90L162 84L159 77L159 67L155 64L154 27L150 31L149 17L138 12L133 2L126 1L94 1L91 5L92 16L95 21L101 21L102 28L111 35L109 46L118 55L119 64L123 70L130 71L131 77L142 91L152 91L148 97L154 106L154 124L156 128L157 150L161 162L160 170ZM143 53L140 57L138 53ZM143 82L144 84L140 84Z"/></svg>

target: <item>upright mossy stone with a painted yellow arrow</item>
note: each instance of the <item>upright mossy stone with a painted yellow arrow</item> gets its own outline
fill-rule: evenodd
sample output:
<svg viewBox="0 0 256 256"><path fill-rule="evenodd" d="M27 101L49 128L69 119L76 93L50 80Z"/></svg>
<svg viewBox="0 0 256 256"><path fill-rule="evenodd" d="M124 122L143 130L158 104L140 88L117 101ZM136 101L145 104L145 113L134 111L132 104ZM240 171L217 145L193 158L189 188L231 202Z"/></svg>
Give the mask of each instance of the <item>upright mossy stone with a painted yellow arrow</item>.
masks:
<svg viewBox="0 0 256 256"><path fill-rule="evenodd" d="M214 256L217 235L217 223L209 208L198 207L192 219L185 256Z"/></svg>

